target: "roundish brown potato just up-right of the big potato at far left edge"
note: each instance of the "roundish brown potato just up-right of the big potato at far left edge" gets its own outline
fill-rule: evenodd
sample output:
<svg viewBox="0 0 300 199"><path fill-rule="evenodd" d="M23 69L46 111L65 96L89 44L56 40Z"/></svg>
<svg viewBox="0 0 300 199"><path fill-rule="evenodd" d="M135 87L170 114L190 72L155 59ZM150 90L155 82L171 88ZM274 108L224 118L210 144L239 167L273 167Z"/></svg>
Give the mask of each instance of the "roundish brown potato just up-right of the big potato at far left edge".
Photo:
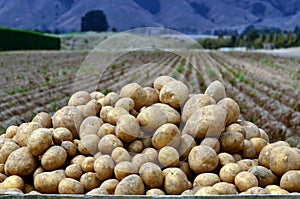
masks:
<svg viewBox="0 0 300 199"><path fill-rule="evenodd" d="M46 128L34 130L28 137L27 148L34 156L42 155L52 145L52 132ZM70 136L72 134L70 132Z"/></svg>

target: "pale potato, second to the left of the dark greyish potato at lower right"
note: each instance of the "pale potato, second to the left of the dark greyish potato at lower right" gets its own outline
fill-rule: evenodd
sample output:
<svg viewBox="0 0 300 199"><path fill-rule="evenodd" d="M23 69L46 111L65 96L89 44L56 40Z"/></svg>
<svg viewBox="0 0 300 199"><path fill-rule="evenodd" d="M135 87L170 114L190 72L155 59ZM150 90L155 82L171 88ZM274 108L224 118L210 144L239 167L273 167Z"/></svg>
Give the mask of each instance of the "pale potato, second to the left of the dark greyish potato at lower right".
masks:
<svg viewBox="0 0 300 199"><path fill-rule="evenodd" d="M227 163L220 169L220 179L223 182L233 183L234 178L242 171L241 167L236 163Z"/></svg>

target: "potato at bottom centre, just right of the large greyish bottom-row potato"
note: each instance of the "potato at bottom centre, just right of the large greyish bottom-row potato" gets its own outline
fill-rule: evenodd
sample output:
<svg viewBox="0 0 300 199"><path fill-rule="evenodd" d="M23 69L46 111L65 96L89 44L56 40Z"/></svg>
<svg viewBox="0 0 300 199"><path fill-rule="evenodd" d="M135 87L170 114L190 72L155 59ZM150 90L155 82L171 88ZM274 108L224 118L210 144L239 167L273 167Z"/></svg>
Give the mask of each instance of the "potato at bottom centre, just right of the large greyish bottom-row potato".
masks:
<svg viewBox="0 0 300 199"><path fill-rule="evenodd" d="M160 188L163 185L161 168L152 162L143 164L139 169L139 175L148 189Z"/></svg>

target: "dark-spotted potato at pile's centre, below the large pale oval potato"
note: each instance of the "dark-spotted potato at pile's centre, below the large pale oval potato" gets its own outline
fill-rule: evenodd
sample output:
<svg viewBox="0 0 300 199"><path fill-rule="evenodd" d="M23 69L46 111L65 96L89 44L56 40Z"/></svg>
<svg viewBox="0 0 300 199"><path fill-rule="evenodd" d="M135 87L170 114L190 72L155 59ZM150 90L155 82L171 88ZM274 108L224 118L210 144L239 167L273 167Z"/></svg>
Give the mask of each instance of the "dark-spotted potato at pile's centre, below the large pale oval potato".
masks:
<svg viewBox="0 0 300 199"><path fill-rule="evenodd" d="M180 144L180 132L177 126L171 123L160 126L152 137L152 145L156 149L165 146L178 147Z"/></svg>

